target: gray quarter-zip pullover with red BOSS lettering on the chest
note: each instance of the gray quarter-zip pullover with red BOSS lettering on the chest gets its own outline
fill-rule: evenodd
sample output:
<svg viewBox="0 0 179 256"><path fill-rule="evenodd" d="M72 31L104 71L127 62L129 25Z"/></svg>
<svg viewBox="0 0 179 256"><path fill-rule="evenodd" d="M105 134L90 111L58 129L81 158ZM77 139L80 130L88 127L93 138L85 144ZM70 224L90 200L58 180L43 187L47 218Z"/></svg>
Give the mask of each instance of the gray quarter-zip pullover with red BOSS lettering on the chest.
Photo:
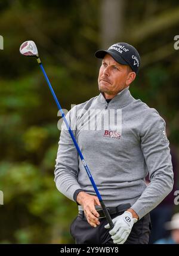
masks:
<svg viewBox="0 0 179 256"><path fill-rule="evenodd" d="M119 121L121 116L121 125L110 123L109 128L98 129L100 118L94 118L95 112L103 120L110 110ZM89 116L95 121L90 130ZM141 218L171 192L173 172L165 121L155 109L135 100L128 87L108 104L100 93L73 107L66 118L106 206L131 203ZM62 127L55 165L57 189L71 200L79 189L95 195L64 122ZM151 183L146 186L148 172Z"/></svg>

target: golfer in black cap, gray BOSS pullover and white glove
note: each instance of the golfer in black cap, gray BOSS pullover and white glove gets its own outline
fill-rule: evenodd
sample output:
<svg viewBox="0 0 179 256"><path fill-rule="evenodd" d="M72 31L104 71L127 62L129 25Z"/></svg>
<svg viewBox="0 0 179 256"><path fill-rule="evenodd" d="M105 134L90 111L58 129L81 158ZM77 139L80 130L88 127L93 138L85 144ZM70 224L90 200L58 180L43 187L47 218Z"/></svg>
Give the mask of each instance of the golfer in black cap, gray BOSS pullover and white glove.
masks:
<svg viewBox="0 0 179 256"><path fill-rule="evenodd" d="M112 217L113 229L107 224L64 124L55 183L61 193L78 203L79 214L70 227L76 243L148 243L149 212L173 186L165 121L129 92L140 67L140 55L132 45L119 42L97 51L95 57L102 60L100 94L73 107L66 118ZM106 128L110 113L115 116L109 118ZM100 129L99 122L103 123ZM146 186L148 172L151 182Z"/></svg>

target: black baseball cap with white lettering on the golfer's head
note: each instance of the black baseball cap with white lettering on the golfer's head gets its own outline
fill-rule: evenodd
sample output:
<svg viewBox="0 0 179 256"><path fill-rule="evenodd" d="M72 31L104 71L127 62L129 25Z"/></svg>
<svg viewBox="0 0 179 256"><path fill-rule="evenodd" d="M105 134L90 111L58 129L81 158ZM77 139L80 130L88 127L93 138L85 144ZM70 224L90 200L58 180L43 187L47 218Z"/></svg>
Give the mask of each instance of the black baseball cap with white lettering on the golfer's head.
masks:
<svg viewBox="0 0 179 256"><path fill-rule="evenodd" d="M140 55L138 51L130 44L119 42L113 44L107 50L99 50L95 52L95 57L104 58L106 54L110 54L115 61L120 64L129 65L136 74L140 67Z"/></svg>

